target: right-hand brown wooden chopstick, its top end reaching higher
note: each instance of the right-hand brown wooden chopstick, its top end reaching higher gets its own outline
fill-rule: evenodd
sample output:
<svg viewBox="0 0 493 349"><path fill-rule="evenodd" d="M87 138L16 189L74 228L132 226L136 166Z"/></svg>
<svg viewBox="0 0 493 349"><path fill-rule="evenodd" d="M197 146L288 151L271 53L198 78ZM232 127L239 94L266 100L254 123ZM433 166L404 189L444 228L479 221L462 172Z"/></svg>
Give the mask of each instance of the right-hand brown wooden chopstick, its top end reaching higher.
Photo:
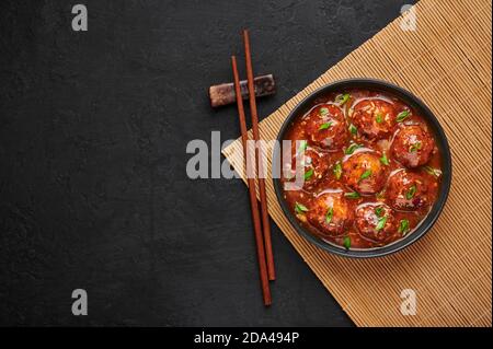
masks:
<svg viewBox="0 0 493 349"><path fill-rule="evenodd" d="M255 143L259 144L260 132L259 132L259 115L256 113L256 102L255 102L255 86L254 86L254 77L253 77L253 68L252 68L252 55L250 50L250 37L249 31L243 31L243 43L244 43L244 57L246 62L246 79L249 86L249 101L250 101L250 114L252 116L252 129L253 129L253 139ZM256 173L264 174L263 168L263 160L261 159L262 154L259 154L259 148L255 147L255 164L256 164ZM261 211L262 211L262 228L263 228L263 236L265 244L265 253L267 258L267 271L268 279L276 279L276 271L274 267L274 256L272 253L272 240L271 240L271 224L268 221L268 210L267 210L267 195L265 193L265 178L263 176L259 176L259 191L260 191L260 201L261 201Z"/></svg>

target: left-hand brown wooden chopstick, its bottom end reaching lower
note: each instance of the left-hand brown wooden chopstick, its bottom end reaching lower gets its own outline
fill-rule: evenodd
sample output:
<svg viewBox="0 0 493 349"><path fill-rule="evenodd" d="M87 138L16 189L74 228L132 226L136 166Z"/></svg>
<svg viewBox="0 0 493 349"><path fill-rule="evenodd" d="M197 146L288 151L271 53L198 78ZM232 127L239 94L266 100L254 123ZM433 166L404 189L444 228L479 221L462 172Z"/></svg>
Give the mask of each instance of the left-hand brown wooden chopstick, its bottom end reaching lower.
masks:
<svg viewBox="0 0 493 349"><path fill-rule="evenodd" d="M237 95L237 106L238 106L238 115L240 118L240 129L241 129L241 140L243 143L243 161L246 162L248 153L250 153L246 149L248 147L248 130L246 130L246 121L244 117L244 107L243 107L243 100L241 97L241 90L240 90L240 77L238 73L238 67L237 67L237 58L234 56L231 56L231 66L233 71L233 78L234 78L234 92ZM252 210L252 219L253 219L253 228L255 232L255 243L256 243L256 256L259 259L259 270L260 270L260 278L262 283L262 294L264 298L264 304L271 305L272 299L271 299L271 288L268 286L268 275L267 275L267 265L265 263L265 249L264 249L264 241L262 239L262 228L261 228L261 219L259 214L259 206L256 201L256 194L255 194L255 181L254 178L251 178L251 176L246 176L248 184L249 184L249 193L250 193L250 206Z"/></svg>

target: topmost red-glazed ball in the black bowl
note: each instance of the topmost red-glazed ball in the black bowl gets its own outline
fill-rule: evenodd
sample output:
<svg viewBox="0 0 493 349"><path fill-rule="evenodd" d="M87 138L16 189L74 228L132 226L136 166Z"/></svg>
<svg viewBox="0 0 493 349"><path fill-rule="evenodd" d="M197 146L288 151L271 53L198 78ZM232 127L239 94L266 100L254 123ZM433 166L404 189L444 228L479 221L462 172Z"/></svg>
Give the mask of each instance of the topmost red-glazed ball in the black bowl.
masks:
<svg viewBox="0 0 493 349"><path fill-rule="evenodd" d="M390 135L395 126L395 110L391 103L382 100L364 100L354 106L354 126L368 139Z"/></svg>

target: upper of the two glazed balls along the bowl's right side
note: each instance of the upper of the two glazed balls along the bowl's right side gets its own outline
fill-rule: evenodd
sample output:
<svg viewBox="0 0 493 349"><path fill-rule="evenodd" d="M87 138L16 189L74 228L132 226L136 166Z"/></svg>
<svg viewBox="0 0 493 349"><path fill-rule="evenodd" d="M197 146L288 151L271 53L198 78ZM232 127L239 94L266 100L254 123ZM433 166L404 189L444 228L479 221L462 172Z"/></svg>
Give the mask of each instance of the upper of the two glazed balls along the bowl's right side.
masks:
<svg viewBox="0 0 493 349"><path fill-rule="evenodd" d="M393 156L404 166L413 168L428 162L435 141L420 125L408 125L397 131L392 141Z"/></svg>

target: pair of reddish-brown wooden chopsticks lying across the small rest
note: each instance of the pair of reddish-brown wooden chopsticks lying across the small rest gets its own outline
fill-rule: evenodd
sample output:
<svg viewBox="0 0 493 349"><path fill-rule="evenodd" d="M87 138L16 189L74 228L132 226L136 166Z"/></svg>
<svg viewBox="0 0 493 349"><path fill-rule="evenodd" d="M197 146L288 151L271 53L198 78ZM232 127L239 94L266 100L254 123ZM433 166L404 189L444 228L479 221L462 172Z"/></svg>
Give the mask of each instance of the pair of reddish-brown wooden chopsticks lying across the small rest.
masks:
<svg viewBox="0 0 493 349"><path fill-rule="evenodd" d="M253 68L252 68L252 57L250 51L250 37L249 32L243 31L243 44L244 44L244 56L246 62L246 79L248 79L248 88L249 88L249 101L250 101L250 113L252 116L252 129L253 129L253 139L255 142L259 142L259 116L256 114L256 102L255 102L255 90L253 85ZM237 95L237 105L238 105L238 115L240 118L240 129L241 129L241 140L243 142L243 158L246 162L248 156L250 155L248 151L248 130L246 130L246 121L244 116L244 107L243 100L241 97L240 90L240 77L238 73L237 67L237 58L231 56L231 66L234 78L234 92ZM262 148L261 148L262 149ZM255 147L255 178L259 179L259 191L260 191L260 201L261 201L261 213L262 213L262 224L261 224L261 214L259 213L259 205L256 201L255 194L255 178L248 177L249 185L249 194L250 194L250 206L252 209L252 219L253 219L253 228L255 233L255 243L256 243L256 255L259 258L259 269L260 277L262 283L262 293L264 298L264 304L271 305L271 288L268 284L268 280L275 280L275 268L274 268L274 256L272 254L272 241L271 241L271 226L268 222L268 212L267 212L267 196L265 194L265 178L263 176L259 176L259 173L265 173L262 168L263 161L261 160L261 155L259 154L259 147ZM261 160L261 161L260 161ZM251 163L251 162L250 162Z"/></svg>

